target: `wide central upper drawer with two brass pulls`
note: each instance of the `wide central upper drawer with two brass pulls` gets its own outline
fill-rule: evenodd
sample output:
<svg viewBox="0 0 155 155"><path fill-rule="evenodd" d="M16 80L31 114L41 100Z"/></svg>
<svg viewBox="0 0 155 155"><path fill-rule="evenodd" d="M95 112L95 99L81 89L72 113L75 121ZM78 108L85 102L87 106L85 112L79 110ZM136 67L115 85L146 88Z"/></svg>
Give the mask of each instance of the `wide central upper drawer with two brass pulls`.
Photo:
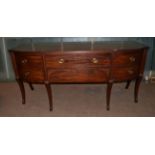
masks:
<svg viewBox="0 0 155 155"><path fill-rule="evenodd" d="M47 68L74 68L79 66L108 67L110 65L109 53L56 53L45 56Z"/></svg>

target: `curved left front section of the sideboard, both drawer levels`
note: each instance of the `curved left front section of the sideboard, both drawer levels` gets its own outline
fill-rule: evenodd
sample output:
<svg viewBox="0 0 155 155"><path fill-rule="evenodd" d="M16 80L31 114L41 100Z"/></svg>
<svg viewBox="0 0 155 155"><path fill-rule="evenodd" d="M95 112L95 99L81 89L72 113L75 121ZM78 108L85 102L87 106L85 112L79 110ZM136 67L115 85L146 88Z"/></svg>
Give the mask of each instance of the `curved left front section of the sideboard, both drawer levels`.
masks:
<svg viewBox="0 0 155 155"><path fill-rule="evenodd" d="M15 53L19 78L27 82L43 82L45 80L43 56L39 53Z"/></svg>

